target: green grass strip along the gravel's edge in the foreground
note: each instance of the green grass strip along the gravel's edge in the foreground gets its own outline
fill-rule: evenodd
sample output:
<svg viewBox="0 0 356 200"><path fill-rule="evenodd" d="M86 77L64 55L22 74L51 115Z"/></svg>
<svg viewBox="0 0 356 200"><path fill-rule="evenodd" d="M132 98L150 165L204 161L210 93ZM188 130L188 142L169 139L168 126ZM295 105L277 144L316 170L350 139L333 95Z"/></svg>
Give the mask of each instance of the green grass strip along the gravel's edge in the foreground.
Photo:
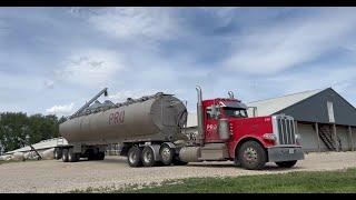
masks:
<svg viewBox="0 0 356 200"><path fill-rule="evenodd" d="M120 193L355 193L356 168L234 178L188 178L160 184L99 188L72 192Z"/></svg>

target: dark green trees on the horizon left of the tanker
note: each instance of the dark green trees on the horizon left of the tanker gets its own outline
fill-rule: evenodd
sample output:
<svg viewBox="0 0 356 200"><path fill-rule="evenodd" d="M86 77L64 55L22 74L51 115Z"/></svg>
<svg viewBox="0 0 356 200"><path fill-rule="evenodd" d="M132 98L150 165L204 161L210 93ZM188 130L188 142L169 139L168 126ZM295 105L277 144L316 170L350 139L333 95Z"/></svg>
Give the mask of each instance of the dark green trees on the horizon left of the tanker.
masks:
<svg viewBox="0 0 356 200"><path fill-rule="evenodd" d="M59 137L59 123L65 117L55 114L27 116L23 112L0 112L0 150L11 151L24 146L21 141L37 143L41 140ZM27 137L28 136L28 137Z"/></svg>

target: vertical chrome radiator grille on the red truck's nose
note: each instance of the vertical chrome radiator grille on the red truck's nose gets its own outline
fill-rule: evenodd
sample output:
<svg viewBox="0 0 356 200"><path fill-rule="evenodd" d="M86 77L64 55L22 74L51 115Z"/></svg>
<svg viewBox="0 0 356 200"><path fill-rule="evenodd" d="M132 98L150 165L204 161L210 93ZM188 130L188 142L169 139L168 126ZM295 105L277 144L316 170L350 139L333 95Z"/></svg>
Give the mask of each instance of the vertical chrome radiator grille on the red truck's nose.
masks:
<svg viewBox="0 0 356 200"><path fill-rule="evenodd" d="M279 144L296 144L296 127L293 119L277 118Z"/></svg>

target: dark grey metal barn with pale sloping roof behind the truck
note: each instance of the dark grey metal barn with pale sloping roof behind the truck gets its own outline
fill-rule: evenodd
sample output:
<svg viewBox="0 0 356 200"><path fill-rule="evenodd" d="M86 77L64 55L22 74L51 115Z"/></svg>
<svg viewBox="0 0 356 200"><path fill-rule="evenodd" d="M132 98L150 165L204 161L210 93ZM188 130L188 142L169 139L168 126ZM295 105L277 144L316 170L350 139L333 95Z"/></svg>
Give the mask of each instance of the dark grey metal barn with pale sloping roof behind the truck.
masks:
<svg viewBox="0 0 356 200"><path fill-rule="evenodd" d="M334 89L305 91L247 103L249 116L285 113L297 121L305 151L355 149L356 108Z"/></svg>

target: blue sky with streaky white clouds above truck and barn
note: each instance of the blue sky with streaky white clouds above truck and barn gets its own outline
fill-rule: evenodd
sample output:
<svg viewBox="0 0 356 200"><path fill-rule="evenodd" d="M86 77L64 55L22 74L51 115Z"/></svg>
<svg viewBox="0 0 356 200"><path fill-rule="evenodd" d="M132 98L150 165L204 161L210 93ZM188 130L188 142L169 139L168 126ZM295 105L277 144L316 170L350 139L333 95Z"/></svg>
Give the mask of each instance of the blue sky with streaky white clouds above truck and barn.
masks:
<svg viewBox="0 0 356 200"><path fill-rule="evenodd" d="M67 116L102 88L195 110L333 87L356 106L355 8L1 8L0 111Z"/></svg>

